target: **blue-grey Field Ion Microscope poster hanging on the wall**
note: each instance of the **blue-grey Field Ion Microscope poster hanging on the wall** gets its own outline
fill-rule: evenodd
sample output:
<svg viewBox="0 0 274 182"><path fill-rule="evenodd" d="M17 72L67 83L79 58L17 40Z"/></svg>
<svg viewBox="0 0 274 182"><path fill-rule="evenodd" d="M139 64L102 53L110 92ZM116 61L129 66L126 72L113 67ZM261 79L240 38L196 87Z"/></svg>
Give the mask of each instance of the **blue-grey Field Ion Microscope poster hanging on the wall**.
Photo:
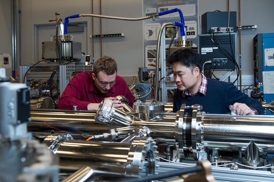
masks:
<svg viewBox="0 0 274 182"><path fill-rule="evenodd" d="M155 15L159 12L168 11L178 8L182 11L185 25L187 26L187 39L191 38L193 46L197 47L198 43L198 0L143 0L143 16ZM170 13L152 19L143 20L143 45L144 45L144 66L148 69L155 69L156 45L160 27L166 22L179 22L180 15L178 12ZM169 46L175 26L166 27L166 48ZM180 31L177 32L174 39L179 38ZM179 39L178 39L179 40Z"/></svg>

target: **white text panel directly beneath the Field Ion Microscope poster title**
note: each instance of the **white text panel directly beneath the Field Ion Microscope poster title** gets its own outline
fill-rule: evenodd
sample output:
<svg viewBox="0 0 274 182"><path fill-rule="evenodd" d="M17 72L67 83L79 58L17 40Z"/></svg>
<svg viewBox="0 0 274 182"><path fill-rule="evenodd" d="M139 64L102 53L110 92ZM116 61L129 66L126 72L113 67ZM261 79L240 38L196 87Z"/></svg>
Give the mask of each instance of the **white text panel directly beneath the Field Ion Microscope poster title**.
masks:
<svg viewBox="0 0 274 182"><path fill-rule="evenodd" d="M164 11L168 11L174 8L178 8L182 11L184 17L187 16L195 16L196 14L196 9L195 9L195 5L191 4L191 5L178 5L178 6L165 6L165 7L159 7L158 8L158 12L164 12ZM178 12L175 13L170 13L167 15L162 15L159 18L170 18L170 17L180 17Z"/></svg>

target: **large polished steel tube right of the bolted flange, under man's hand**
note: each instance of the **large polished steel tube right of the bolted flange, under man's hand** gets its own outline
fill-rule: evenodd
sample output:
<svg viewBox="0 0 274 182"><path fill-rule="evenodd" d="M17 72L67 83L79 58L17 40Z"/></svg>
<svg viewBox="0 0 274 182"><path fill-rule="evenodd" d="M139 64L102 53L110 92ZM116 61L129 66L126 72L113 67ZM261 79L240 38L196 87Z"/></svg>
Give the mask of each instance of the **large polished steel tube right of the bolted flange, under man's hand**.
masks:
<svg viewBox="0 0 274 182"><path fill-rule="evenodd" d="M204 149L245 151L254 142L260 152L274 152L274 116L204 114L201 132Z"/></svg>

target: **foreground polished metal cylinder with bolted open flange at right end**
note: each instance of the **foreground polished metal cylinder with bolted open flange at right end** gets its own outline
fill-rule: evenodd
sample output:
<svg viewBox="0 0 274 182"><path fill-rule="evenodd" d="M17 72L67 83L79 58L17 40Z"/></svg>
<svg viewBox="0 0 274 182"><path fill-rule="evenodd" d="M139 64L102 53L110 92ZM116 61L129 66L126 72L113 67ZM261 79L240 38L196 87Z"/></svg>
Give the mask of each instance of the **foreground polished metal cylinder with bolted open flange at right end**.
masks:
<svg viewBox="0 0 274 182"><path fill-rule="evenodd" d="M56 140L54 139L56 138ZM105 171L106 175L140 177L145 158L148 158L150 173L155 173L157 150L150 137L136 138L132 143L64 140L56 134L46 138L45 144L60 158L61 169L78 170L89 166L94 170ZM65 141L66 140L66 141ZM44 143L44 142L43 142Z"/></svg>

